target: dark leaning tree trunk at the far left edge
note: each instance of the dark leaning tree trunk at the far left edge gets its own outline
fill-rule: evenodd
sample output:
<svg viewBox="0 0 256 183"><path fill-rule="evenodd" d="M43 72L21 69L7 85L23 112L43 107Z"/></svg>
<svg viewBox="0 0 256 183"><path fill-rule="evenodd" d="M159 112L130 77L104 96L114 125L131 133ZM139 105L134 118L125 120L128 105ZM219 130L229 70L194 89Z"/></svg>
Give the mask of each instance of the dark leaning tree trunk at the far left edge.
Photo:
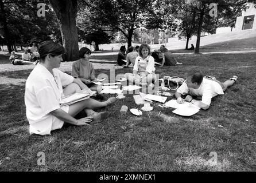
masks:
<svg viewBox="0 0 256 183"><path fill-rule="evenodd" d="M5 6L3 5L3 0L0 0L0 9L1 9L0 22L2 22L2 25L3 25L3 33L5 34L7 49L9 53L11 53L11 51L13 50L11 49L10 32L7 27L6 12L5 12Z"/></svg>

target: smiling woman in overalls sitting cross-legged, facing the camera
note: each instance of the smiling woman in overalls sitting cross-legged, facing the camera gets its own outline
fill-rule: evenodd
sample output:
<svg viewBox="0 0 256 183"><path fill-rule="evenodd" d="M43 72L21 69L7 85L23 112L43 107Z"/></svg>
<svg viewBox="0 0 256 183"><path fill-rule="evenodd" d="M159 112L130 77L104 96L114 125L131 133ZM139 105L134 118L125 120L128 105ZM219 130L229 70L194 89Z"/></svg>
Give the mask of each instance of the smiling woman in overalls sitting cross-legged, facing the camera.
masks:
<svg viewBox="0 0 256 183"><path fill-rule="evenodd" d="M156 79L154 67L154 58L150 55L149 45L142 44L139 47L139 56L135 59L133 74L126 73L125 78L135 85L154 87L153 83Z"/></svg>

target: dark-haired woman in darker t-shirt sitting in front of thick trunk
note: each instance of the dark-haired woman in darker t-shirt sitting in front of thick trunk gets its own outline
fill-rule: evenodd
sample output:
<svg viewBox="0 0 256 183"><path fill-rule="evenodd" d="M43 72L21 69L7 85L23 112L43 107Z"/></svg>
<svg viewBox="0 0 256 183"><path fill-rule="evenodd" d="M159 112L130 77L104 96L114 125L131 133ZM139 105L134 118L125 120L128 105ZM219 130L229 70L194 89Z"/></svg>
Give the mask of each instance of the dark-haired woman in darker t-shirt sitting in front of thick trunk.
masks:
<svg viewBox="0 0 256 183"><path fill-rule="evenodd" d="M98 80L95 78L94 66L90 62L91 50L87 47L82 47L79 50L79 57L80 59L78 61L72 63L71 75L74 78L80 78L81 81L90 87L92 91L100 92L102 90L102 86L95 85L92 82L97 82Z"/></svg>

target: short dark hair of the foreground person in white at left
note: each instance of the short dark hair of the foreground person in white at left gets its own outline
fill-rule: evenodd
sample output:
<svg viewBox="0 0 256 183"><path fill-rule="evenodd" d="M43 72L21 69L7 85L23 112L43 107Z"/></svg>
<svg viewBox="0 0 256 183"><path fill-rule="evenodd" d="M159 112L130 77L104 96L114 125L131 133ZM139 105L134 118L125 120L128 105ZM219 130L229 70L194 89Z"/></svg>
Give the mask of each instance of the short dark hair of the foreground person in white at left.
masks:
<svg viewBox="0 0 256 183"><path fill-rule="evenodd" d="M44 41L41 43L38 53L40 54L41 61L44 61L46 55L50 54L52 57L65 53L65 49L59 43L53 41Z"/></svg>

